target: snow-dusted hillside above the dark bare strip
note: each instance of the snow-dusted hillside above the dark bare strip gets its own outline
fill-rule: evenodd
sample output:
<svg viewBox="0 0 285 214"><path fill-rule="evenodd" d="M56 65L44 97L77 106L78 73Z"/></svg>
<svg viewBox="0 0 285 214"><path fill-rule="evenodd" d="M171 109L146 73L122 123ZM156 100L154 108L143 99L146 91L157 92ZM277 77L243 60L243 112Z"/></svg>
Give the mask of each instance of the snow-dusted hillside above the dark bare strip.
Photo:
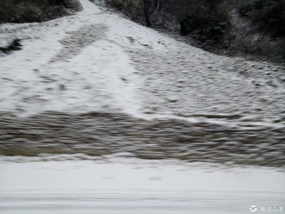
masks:
<svg viewBox="0 0 285 214"><path fill-rule="evenodd" d="M84 10L73 16L0 26L2 41L17 37L24 45L0 58L2 111L118 111L143 118L255 112L252 122L267 126L282 114L282 68L207 53L81 2Z"/></svg>

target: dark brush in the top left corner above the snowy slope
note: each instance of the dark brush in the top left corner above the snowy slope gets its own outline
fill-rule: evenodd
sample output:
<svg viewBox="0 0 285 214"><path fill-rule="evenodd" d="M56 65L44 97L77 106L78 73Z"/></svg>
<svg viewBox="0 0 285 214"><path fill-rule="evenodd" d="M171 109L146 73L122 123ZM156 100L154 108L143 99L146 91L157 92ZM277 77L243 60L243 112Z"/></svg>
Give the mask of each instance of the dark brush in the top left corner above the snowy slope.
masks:
<svg viewBox="0 0 285 214"><path fill-rule="evenodd" d="M77 0L0 0L0 23L44 22L81 9Z"/></svg>

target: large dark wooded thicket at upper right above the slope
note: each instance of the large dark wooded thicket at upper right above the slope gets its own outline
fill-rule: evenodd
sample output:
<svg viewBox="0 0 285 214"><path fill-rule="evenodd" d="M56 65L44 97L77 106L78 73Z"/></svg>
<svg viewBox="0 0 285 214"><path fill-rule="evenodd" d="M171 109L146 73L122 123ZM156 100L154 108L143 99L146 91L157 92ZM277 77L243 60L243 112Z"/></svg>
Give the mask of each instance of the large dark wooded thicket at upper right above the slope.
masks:
<svg viewBox="0 0 285 214"><path fill-rule="evenodd" d="M285 63L285 0L108 0L131 20L227 56Z"/></svg>

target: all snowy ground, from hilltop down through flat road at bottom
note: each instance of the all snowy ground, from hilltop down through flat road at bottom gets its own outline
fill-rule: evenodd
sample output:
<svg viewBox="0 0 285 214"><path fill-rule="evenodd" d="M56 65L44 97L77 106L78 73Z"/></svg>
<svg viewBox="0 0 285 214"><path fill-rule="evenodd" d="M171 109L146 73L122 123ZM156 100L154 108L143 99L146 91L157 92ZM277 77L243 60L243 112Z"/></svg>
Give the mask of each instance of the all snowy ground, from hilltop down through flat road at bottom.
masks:
<svg viewBox="0 0 285 214"><path fill-rule="evenodd" d="M1 47L23 45L0 56L0 213L285 206L284 67L80 2L76 15L0 25Z"/></svg>

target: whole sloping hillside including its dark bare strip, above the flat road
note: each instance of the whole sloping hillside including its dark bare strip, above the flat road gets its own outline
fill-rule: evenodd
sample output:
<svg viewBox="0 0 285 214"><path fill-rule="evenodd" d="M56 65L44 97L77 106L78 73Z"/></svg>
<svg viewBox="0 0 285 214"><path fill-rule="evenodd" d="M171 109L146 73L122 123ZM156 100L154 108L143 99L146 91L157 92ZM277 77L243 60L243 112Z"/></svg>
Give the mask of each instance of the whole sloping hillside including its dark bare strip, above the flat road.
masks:
<svg viewBox="0 0 285 214"><path fill-rule="evenodd" d="M0 25L4 155L131 152L284 167L284 67L207 53L82 0ZM1 45L0 45L1 46Z"/></svg>

